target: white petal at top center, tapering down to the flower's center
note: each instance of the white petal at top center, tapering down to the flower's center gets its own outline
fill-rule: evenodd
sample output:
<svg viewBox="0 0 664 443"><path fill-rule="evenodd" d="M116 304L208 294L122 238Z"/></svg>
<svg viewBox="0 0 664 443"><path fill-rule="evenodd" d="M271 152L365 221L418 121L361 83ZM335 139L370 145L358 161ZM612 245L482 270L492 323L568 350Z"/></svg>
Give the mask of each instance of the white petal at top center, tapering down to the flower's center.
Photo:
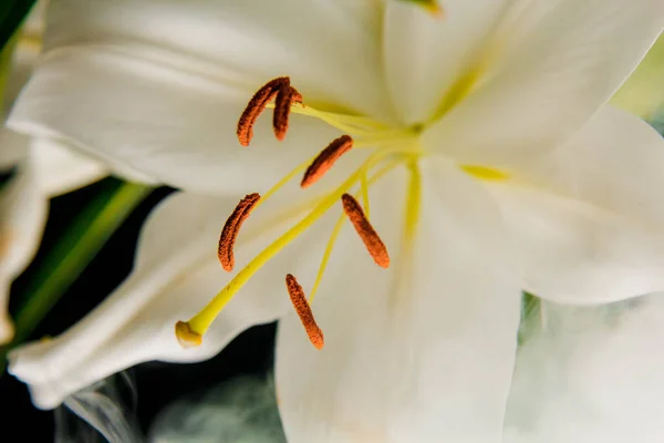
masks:
<svg viewBox="0 0 664 443"><path fill-rule="evenodd" d="M455 80L479 55L505 0L445 0L444 17L402 1L387 3L383 53L392 100L402 121L427 121Z"/></svg>

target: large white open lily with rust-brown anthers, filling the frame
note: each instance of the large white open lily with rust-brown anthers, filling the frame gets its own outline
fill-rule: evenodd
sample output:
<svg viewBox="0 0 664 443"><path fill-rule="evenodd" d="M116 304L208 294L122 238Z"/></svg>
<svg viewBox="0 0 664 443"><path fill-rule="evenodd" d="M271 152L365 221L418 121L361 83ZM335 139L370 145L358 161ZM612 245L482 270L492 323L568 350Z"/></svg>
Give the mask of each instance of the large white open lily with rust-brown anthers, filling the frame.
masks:
<svg viewBox="0 0 664 443"><path fill-rule="evenodd" d="M186 192L153 213L113 296L10 356L34 403L54 408L143 361L209 358L280 319L290 442L498 442L521 289L572 305L664 289L664 142L605 105L662 32L664 3L443 8L434 18L370 0L54 1L43 65L11 127ZM287 80L271 83L280 137L293 114L286 138L263 116L251 146L239 146L247 101L281 75L303 102ZM240 124L245 144L248 130ZM320 183L266 194L332 140L347 142L342 134L353 148ZM212 244L255 192L241 270L228 275ZM387 253L361 212L351 215L374 259L386 266L388 254L387 270L350 226L328 243L336 203L354 192ZM229 269L232 238L222 243ZM289 272L309 297L317 286L317 320L297 293L301 317L292 312ZM176 322L180 341L199 346L180 347ZM322 328L323 350L301 323L319 348Z"/></svg>

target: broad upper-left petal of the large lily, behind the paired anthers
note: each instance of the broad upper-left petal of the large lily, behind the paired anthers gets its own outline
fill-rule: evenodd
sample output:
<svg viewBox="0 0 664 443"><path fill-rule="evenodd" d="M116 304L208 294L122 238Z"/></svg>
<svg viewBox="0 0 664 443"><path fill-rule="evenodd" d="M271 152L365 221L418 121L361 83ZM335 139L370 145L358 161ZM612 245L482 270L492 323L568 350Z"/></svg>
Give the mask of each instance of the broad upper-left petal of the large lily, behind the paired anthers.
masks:
<svg viewBox="0 0 664 443"><path fill-rule="evenodd" d="M43 63L9 125L70 141L132 179L137 171L189 190L245 193L238 177L252 168L272 184L339 134L294 116L279 146L261 119L255 145L241 148L237 121L267 80L290 75L311 104L391 110L382 10L344 3L55 0Z"/></svg>

